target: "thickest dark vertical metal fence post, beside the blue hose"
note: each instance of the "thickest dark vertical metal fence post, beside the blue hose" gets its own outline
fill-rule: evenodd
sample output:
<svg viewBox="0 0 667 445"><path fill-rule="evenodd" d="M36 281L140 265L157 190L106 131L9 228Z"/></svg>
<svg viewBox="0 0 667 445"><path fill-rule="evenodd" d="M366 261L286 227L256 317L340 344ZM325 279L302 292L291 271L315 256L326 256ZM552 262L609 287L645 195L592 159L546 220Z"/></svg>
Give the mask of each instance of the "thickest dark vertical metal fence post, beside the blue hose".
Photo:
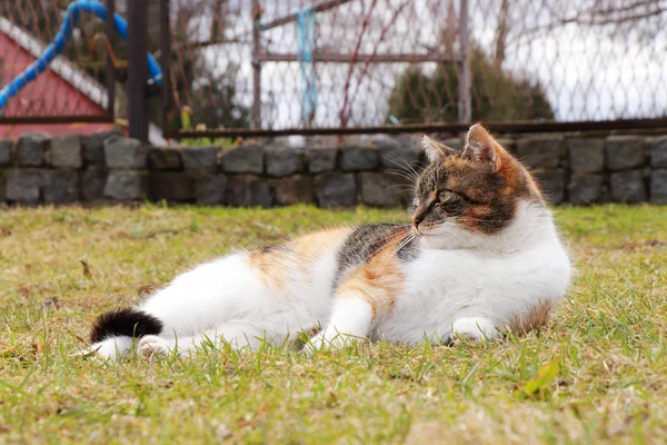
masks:
<svg viewBox="0 0 667 445"><path fill-rule="evenodd" d="M148 142L148 2L128 1L128 121L131 138Z"/></svg>

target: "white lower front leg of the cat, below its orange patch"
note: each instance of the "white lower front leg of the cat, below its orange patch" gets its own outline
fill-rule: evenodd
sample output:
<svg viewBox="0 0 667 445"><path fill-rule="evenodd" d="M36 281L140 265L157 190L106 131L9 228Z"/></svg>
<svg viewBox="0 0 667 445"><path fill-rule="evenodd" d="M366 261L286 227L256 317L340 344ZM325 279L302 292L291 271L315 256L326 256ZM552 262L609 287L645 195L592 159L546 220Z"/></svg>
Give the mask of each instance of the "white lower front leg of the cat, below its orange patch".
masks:
<svg viewBox="0 0 667 445"><path fill-rule="evenodd" d="M372 317L372 306L367 300L357 296L337 296L329 323L310 339L307 350L338 349L366 337Z"/></svg>

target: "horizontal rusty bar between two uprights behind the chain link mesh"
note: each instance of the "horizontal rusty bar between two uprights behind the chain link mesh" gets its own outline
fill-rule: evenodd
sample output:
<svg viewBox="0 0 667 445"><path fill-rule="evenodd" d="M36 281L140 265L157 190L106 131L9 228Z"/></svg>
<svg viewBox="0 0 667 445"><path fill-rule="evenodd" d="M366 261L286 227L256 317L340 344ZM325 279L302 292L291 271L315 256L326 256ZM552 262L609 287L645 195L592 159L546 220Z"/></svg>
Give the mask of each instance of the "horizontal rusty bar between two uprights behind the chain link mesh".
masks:
<svg viewBox="0 0 667 445"><path fill-rule="evenodd" d="M257 55L258 60L265 62L298 62L297 55L262 52ZM445 53L396 53L396 55L342 55L339 52L313 51L312 60L318 62L349 63L352 59L360 62L377 63L416 63L416 62L457 62L458 57Z"/></svg>

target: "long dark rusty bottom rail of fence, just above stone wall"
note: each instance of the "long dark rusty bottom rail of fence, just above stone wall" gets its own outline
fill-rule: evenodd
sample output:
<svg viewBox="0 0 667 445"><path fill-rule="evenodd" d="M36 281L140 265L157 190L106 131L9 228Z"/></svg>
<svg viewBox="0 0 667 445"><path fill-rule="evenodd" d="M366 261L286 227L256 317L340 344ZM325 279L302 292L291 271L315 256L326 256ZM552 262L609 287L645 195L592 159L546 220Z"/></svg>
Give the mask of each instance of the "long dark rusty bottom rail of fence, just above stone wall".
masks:
<svg viewBox="0 0 667 445"><path fill-rule="evenodd" d="M323 127L323 128L288 128L283 130L262 130L247 128L228 128L206 131L175 131L170 138L201 137L279 137L290 135L364 135L364 134L401 134L401 132L449 132L467 131L474 122L452 123L411 123L376 127ZM584 130L667 130L667 118L659 119L626 119L626 120L587 120L578 122L558 121L516 121L516 122L484 122L491 132L549 132L549 131L584 131Z"/></svg>

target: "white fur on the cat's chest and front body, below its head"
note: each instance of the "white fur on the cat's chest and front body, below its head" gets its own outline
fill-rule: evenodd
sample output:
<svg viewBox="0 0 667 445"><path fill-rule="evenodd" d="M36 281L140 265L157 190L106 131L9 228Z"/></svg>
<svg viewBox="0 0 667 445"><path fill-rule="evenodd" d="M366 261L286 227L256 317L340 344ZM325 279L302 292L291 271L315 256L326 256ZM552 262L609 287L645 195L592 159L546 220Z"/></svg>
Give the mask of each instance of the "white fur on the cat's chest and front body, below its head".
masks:
<svg viewBox="0 0 667 445"><path fill-rule="evenodd" d="M560 299L570 279L567 254L550 218L532 218L526 208L521 212L524 220L508 229L501 246L422 249L406 265L405 291L377 320L372 337L444 339L457 319L484 317L494 326L507 326L540 301ZM517 239L508 239L511 236Z"/></svg>

